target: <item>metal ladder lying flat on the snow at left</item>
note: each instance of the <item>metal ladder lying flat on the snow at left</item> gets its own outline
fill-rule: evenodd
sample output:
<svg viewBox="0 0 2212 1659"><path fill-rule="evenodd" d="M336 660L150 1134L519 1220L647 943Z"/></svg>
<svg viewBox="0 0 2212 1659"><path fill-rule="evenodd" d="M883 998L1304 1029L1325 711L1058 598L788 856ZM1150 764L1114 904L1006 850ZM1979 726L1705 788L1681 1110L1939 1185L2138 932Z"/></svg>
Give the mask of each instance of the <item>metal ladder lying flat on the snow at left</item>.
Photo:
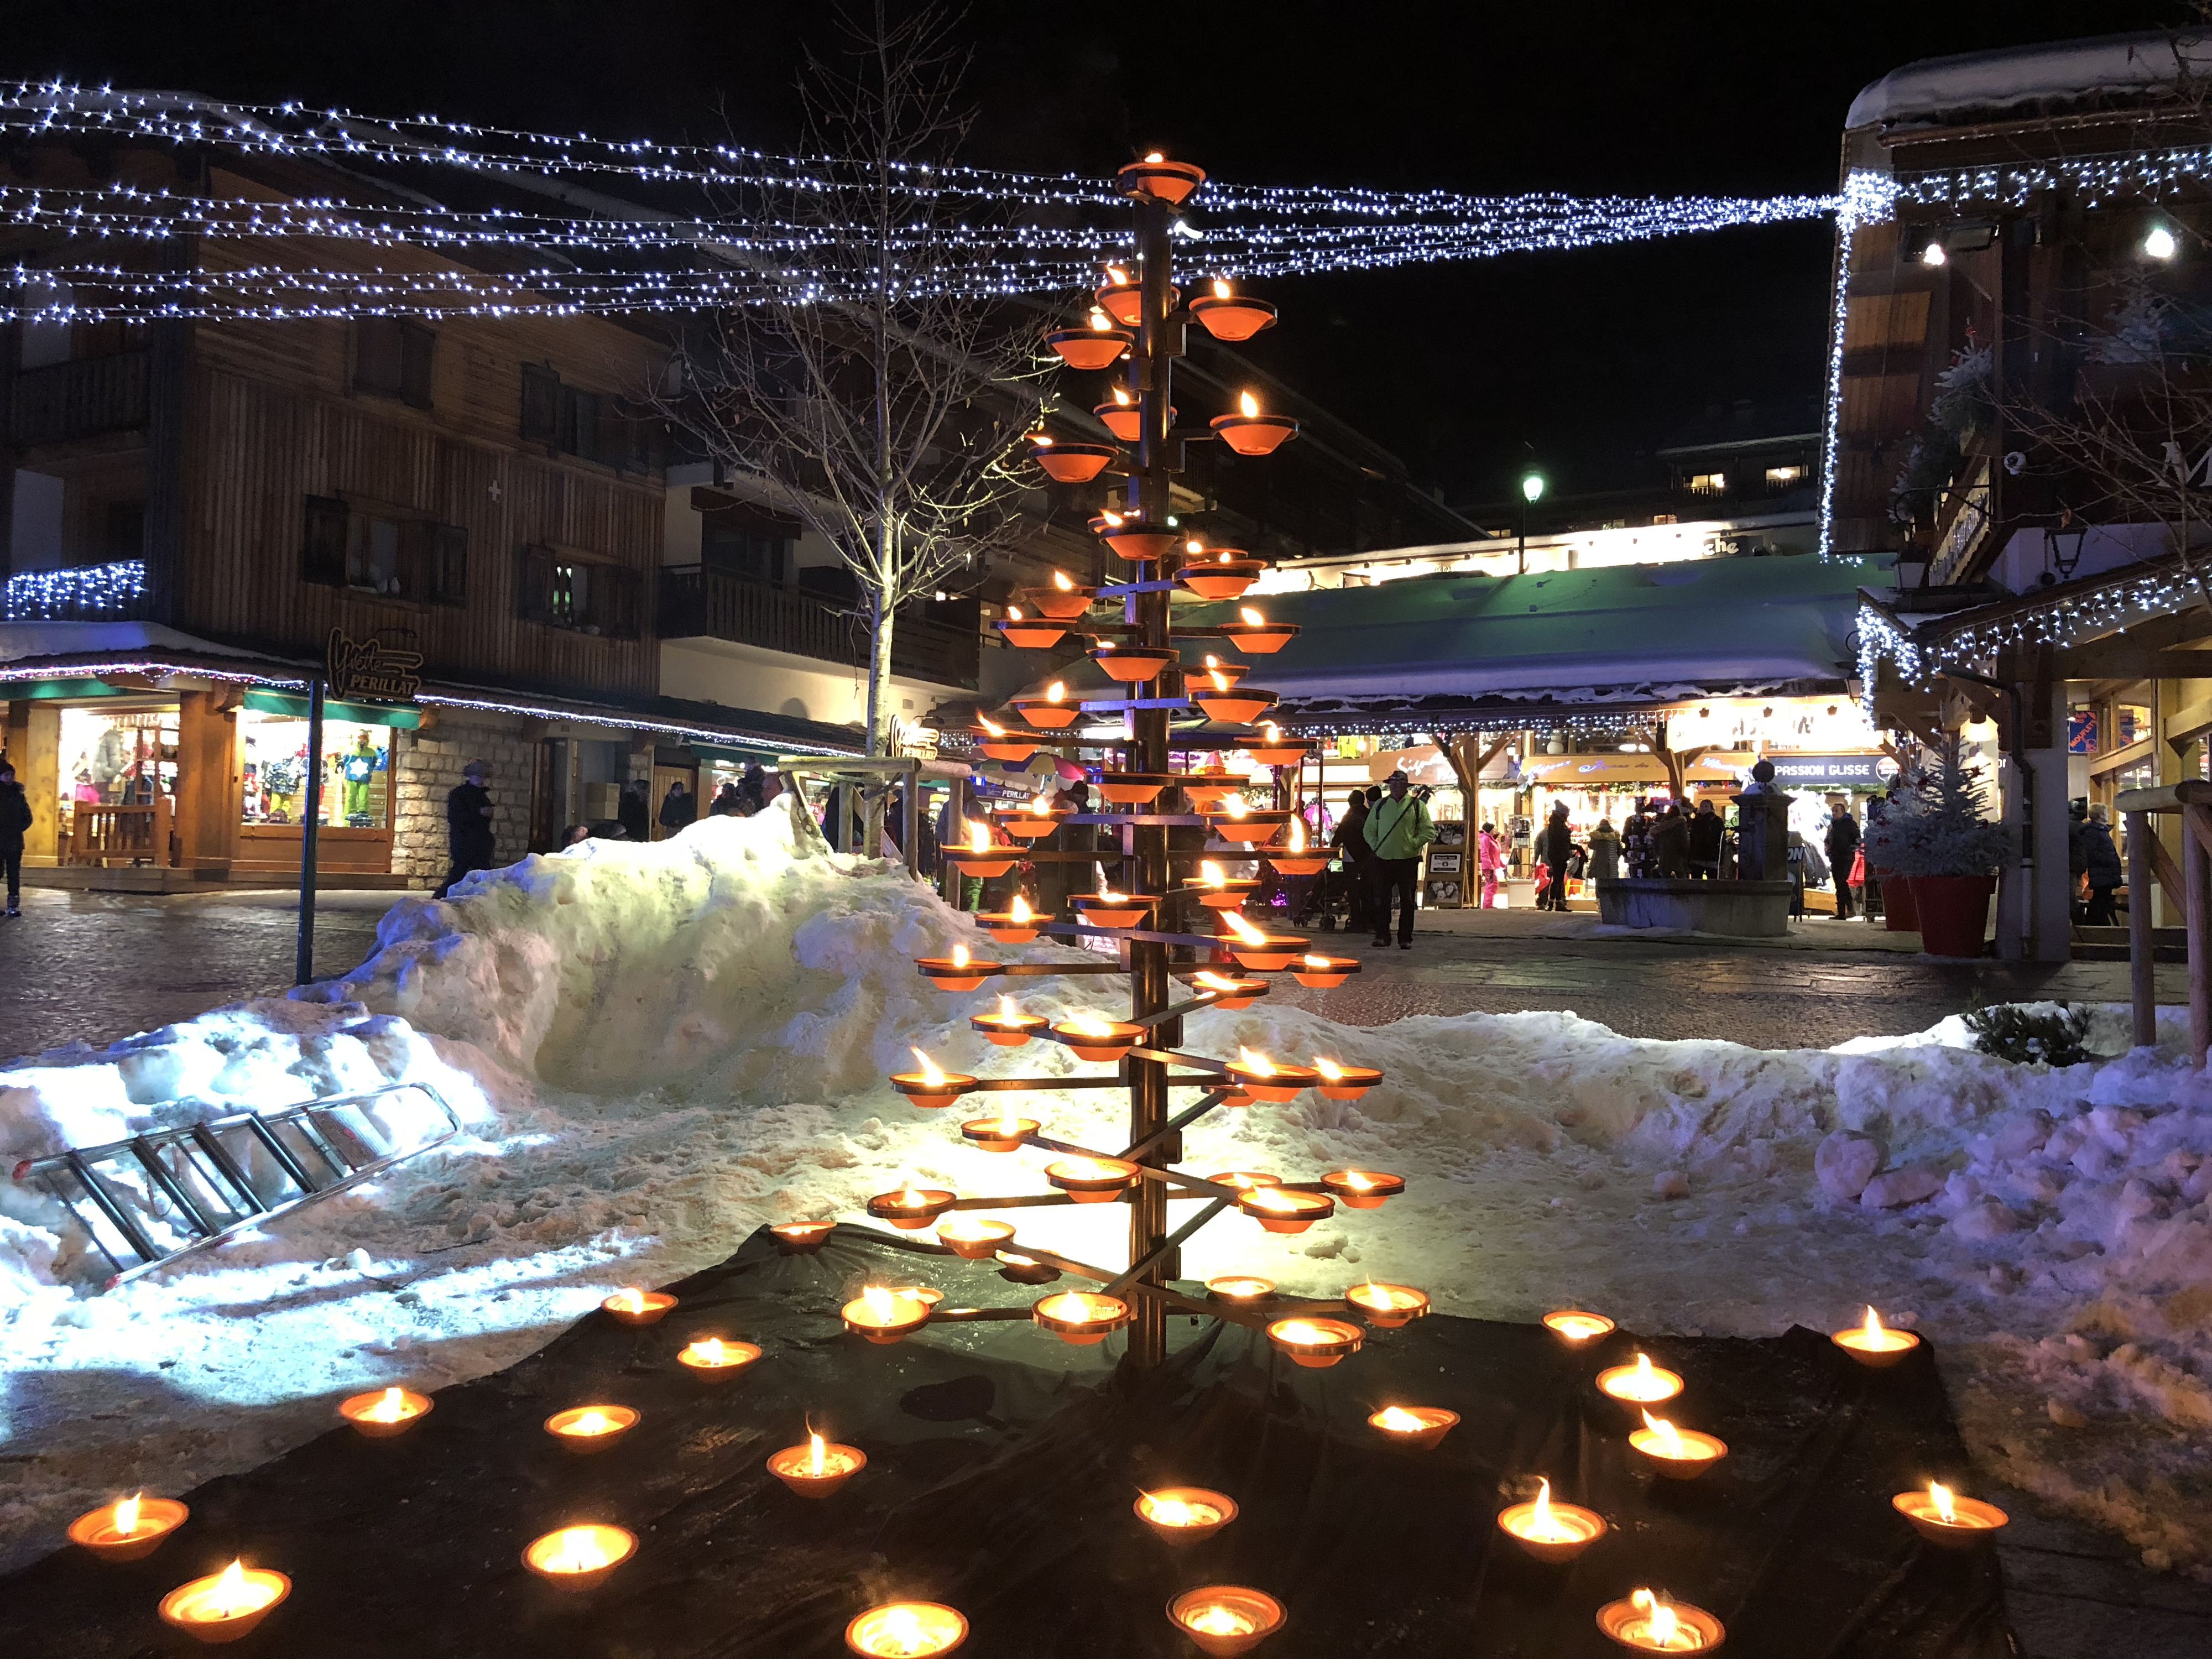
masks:
<svg viewBox="0 0 2212 1659"><path fill-rule="evenodd" d="M403 1095L425 1097L445 1126L409 1141L380 1124L405 1117L389 1110ZM24 1159L15 1179L62 1201L115 1267L113 1287L369 1181L458 1133L460 1119L436 1088L387 1084Z"/></svg>

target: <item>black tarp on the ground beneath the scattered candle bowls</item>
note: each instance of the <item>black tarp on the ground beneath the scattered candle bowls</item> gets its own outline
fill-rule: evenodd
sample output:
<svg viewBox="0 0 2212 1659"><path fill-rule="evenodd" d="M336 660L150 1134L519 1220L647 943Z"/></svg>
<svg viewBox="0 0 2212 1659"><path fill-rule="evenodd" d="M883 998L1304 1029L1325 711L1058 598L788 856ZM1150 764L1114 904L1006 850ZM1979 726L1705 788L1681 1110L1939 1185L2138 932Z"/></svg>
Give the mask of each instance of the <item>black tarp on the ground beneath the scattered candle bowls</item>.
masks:
<svg viewBox="0 0 2212 1659"><path fill-rule="evenodd" d="M1732 1447L1701 1482L1655 1484L1588 1383L1632 1354L1624 1334L1568 1354L1542 1327L1431 1316L1307 1371L1256 1332L1175 1318L1172 1365L1117 1389L1121 1338L1075 1349L1026 1323L938 1325L896 1347L845 1336L836 1307L867 1276L927 1276L971 1305L1044 1294L860 1232L816 1256L757 1234L675 1285L684 1301L655 1327L595 1314L445 1389L400 1440L341 1427L186 1493L190 1524L144 1562L62 1548L24 1568L0 1584L0 1652L197 1652L155 1604L232 1555L294 1579L226 1650L237 1659L810 1659L843 1652L845 1621L894 1597L967 1613L975 1659L1146 1659L1194 1652L1164 1604L1223 1582L1287 1604L1270 1659L1617 1652L1593 1615L1639 1584L1719 1613L1741 1655L2006 1652L1995 1559L1924 1548L1889 1509L1893 1491L1964 1469L1927 1347L1865 1374L1805 1329L1652 1338L1688 1378L1677 1420ZM768 1354L706 1387L675 1354L708 1334ZM586 1402L644 1420L575 1458L540 1422ZM1391 1402L1462 1422L1429 1453L1385 1447L1365 1416ZM869 1455L821 1502L763 1469L810 1411ZM1537 1473L1613 1522L1573 1566L1526 1562L1493 1524ZM1243 1513L1168 1551L1130 1515L1139 1484L1214 1486ZM639 1535L586 1597L518 1562L577 1520Z"/></svg>

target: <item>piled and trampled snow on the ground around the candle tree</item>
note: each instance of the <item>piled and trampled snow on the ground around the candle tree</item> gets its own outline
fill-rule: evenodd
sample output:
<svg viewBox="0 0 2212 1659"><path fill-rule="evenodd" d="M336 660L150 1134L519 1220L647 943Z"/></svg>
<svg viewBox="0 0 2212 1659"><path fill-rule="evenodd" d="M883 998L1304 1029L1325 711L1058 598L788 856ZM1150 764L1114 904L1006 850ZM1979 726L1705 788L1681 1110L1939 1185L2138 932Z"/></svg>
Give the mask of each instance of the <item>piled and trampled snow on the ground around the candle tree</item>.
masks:
<svg viewBox="0 0 2212 1659"><path fill-rule="evenodd" d="M969 925L902 874L779 812L710 818L403 900L319 1000L0 1071L9 1161L385 1079L431 1082L469 1126L113 1292L49 1199L0 1183L0 1566L117 1491L181 1491L323 1431L341 1394L509 1365L611 1287L719 1261L763 1221L858 1219L907 1177L1035 1190L1042 1155L969 1150L951 1113L885 1084L909 1044L987 1075L1088 1071L971 1035L991 998L909 967L953 942ZM1022 984L1040 1013L1115 1011L1110 982ZM1871 1301L1938 1340L1991 1478L2212 1573L2212 1088L2172 1044L2044 1071L1973 1053L1955 1020L1781 1053L1571 1013L1356 1029L1261 1002L1188 1022L1194 1051L1237 1044L1389 1077L1358 1104L1217 1113L1190 1168L1365 1164L1411 1190L1298 1239L1223 1217L1186 1272L1327 1294L1374 1274L1444 1312L1573 1303L1683 1334L1832 1329ZM2124 1044L2101 1011L2093 1046ZM1031 1099L1066 1139L1124 1139L1106 1091ZM1869 1175L1898 1203L1847 1197ZM1117 1261L1121 1214L1015 1219Z"/></svg>

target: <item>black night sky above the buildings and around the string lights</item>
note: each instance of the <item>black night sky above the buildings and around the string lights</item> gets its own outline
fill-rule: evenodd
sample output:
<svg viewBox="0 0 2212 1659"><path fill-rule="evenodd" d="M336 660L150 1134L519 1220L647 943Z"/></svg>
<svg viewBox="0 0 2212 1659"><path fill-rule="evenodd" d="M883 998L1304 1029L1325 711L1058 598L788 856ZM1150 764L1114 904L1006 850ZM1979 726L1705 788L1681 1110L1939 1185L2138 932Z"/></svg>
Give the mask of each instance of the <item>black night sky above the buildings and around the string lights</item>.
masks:
<svg viewBox="0 0 2212 1659"><path fill-rule="evenodd" d="M827 0L22 0L0 73L794 144ZM1261 184L1818 192L1851 95L1916 58L2181 22L2181 0L1040 4L975 0L971 159L1110 170L1166 146ZM1455 500L1535 445L1604 487L1708 405L1805 407L1825 223L1279 281L1254 356Z"/></svg>

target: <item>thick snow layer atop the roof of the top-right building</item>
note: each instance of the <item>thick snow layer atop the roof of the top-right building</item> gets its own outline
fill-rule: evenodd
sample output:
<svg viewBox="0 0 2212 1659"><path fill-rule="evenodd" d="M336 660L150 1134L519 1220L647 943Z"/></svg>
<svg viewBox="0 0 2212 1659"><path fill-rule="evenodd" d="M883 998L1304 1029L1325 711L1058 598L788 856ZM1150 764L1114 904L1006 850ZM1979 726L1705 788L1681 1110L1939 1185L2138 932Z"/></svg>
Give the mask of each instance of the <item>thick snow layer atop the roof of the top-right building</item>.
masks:
<svg viewBox="0 0 2212 1659"><path fill-rule="evenodd" d="M2150 93L2183 73L2212 75L2212 31L2154 29L2139 35L2055 40L1960 58L1922 58L1893 69L1851 100L1847 131L1944 115L2062 104L2097 95Z"/></svg>

